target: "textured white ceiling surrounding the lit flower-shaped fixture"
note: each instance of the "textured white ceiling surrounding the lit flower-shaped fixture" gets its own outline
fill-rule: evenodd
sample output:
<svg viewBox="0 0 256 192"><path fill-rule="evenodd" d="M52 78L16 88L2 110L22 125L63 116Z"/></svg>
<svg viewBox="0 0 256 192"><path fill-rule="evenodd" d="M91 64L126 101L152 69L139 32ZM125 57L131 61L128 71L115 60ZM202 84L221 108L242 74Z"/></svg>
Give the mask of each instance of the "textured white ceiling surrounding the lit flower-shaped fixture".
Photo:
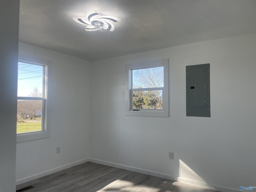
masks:
<svg viewBox="0 0 256 192"><path fill-rule="evenodd" d="M86 32L73 17L118 17ZM86 60L256 33L256 0L20 0L20 41Z"/></svg>

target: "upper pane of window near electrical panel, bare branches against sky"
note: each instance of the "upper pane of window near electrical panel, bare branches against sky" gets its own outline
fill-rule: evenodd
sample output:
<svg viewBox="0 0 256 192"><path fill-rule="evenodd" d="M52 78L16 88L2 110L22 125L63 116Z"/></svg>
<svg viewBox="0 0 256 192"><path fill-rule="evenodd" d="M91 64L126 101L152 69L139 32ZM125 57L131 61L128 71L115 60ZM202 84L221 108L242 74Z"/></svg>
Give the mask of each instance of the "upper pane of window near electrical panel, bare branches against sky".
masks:
<svg viewBox="0 0 256 192"><path fill-rule="evenodd" d="M132 88L164 87L164 67L132 70Z"/></svg>

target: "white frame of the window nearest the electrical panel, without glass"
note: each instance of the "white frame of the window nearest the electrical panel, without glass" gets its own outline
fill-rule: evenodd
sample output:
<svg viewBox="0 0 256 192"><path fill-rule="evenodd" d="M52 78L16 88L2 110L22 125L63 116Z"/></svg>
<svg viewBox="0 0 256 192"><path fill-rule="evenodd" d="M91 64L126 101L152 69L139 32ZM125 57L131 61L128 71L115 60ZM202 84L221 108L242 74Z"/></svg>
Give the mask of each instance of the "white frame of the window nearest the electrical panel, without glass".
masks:
<svg viewBox="0 0 256 192"><path fill-rule="evenodd" d="M132 109L132 70L164 67L164 87L146 88L147 90L162 90L163 106L162 109ZM143 89L143 90L146 90ZM138 90L138 89L136 89ZM151 116L169 117L169 60L161 59L155 61L140 62L126 65L126 115L127 116Z"/></svg>

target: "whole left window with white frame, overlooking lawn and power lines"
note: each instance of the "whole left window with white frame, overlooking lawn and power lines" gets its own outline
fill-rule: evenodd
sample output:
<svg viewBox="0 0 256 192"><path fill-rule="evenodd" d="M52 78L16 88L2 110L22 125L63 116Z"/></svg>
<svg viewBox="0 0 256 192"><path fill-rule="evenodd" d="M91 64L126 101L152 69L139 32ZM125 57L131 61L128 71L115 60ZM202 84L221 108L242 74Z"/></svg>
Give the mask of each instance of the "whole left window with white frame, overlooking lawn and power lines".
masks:
<svg viewBox="0 0 256 192"><path fill-rule="evenodd" d="M47 64L19 59L17 142L49 137L46 128Z"/></svg>

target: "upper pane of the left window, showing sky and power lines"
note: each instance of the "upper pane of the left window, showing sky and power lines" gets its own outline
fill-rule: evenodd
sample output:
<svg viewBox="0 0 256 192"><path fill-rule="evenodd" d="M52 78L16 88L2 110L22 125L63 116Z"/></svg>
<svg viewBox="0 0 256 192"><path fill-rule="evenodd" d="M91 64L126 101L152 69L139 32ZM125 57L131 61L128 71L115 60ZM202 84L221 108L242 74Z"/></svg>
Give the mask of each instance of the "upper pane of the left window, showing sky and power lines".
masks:
<svg viewBox="0 0 256 192"><path fill-rule="evenodd" d="M43 66L18 62L18 97L42 97Z"/></svg>

